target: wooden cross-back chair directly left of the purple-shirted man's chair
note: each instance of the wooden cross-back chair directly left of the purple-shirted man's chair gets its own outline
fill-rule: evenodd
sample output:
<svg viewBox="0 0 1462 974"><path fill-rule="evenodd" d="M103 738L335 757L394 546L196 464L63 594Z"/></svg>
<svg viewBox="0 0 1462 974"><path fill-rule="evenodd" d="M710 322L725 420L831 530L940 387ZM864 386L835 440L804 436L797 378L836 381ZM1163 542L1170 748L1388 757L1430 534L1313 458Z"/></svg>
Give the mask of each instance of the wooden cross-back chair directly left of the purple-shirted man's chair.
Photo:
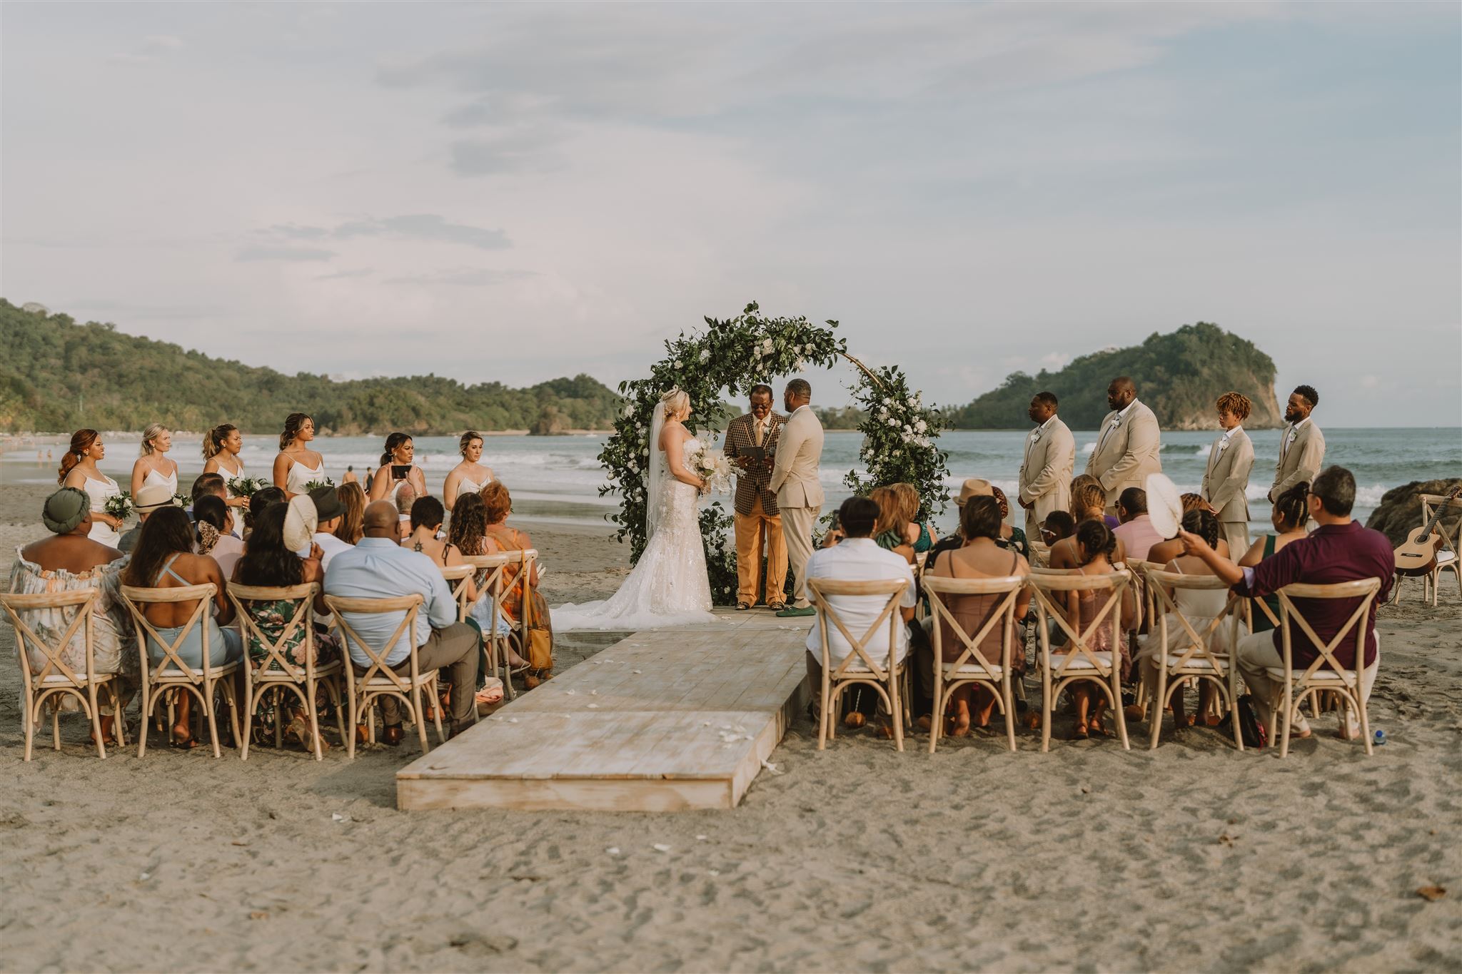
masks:
<svg viewBox="0 0 1462 974"><path fill-rule="evenodd" d="M1148 591L1152 594L1152 618L1156 624L1151 628L1148 638L1154 643L1154 662L1158 664L1158 685L1154 689L1151 708L1148 710L1148 749L1158 746L1158 736L1162 732L1162 710L1168 705L1168 698L1174 692L1181 692L1183 682L1189 679L1208 680L1218 688L1219 697L1230 713L1234 713L1234 701L1238 699L1238 670L1234 666L1234 647L1238 644L1238 621L1246 610L1243 596L1230 594L1224 603L1224 610L1218 618L1209 621L1200 632L1193 622L1183 615L1174 594L1178 588L1189 591L1227 591L1228 583L1218 575L1184 575L1175 571L1164 571L1149 567L1146 571ZM1266 606L1268 607L1268 606ZM1168 647L1168 619L1177 619L1180 643ZM1228 629L1227 637L1222 629ZM1213 641L1222 638L1227 651L1213 650ZM1234 729L1234 746L1244 749L1244 737L1240 733L1238 720L1230 717Z"/></svg>

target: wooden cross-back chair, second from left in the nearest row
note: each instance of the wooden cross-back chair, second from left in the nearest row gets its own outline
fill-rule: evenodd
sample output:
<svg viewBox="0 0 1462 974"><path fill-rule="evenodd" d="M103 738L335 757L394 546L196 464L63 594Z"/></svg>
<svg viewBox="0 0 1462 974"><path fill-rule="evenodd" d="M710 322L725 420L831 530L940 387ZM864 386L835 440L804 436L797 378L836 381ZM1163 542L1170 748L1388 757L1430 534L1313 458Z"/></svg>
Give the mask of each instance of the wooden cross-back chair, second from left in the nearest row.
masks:
<svg viewBox="0 0 1462 974"><path fill-rule="evenodd" d="M218 746L218 717L213 708L215 691L222 688L224 699L228 704L228 720L230 727L234 732L234 740L240 739L238 733L238 699L234 697L234 682L227 679L234 675L238 669L238 662L224 663L222 666L213 666L209 663L209 626L208 619L212 612L213 596L218 593L218 586L208 581L202 586L178 586L177 588L143 588L139 586L121 586L121 600L132 613L132 621L137 631L137 656L140 667L140 692L142 692L142 730L137 732L137 756L146 753L148 751L148 726L146 721L152 717L154 708L158 701L162 699L164 694L168 691L180 691L192 694L197 698L199 705L203 708L203 716L208 720L208 736L213 745L213 756L221 758L222 751ZM189 615L187 622L184 622L175 640L165 640L158 632L156 626L148 622L148 618L142 615L142 606L161 605L173 602L194 602L193 612ZM194 626L202 629L202 647L203 659L202 666L192 667L183 662L177 654L178 647L187 640L189 634ZM148 640L152 640L162 648L162 660L154 667L148 660ZM171 708L171 705L170 705ZM168 733L173 733L171 727Z"/></svg>

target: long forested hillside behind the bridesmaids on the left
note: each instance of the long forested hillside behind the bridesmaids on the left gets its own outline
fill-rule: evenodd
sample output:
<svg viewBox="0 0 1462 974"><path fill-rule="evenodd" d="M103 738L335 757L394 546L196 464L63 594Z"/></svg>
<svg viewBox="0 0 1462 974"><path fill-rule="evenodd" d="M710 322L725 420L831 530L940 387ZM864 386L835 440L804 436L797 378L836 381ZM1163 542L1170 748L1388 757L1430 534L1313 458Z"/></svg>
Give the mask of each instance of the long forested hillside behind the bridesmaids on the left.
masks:
<svg viewBox="0 0 1462 974"><path fill-rule="evenodd" d="M437 375L332 381L215 359L168 342L25 311L0 298L0 431L279 429L291 412L342 435L401 429L608 429L620 397L589 375L529 388Z"/></svg>

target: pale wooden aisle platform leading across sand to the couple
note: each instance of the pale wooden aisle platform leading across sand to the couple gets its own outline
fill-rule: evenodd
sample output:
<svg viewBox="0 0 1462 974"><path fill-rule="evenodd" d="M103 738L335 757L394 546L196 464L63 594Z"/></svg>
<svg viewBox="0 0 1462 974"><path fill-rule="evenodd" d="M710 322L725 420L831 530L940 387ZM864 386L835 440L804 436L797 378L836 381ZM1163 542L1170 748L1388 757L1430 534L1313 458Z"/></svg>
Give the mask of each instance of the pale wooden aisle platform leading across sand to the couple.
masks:
<svg viewBox="0 0 1462 974"><path fill-rule="evenodd" d="M396 772L396 806L735 808L807 702L807 621L635 632ZM789 625L792 622L801 625Z"/></svg>

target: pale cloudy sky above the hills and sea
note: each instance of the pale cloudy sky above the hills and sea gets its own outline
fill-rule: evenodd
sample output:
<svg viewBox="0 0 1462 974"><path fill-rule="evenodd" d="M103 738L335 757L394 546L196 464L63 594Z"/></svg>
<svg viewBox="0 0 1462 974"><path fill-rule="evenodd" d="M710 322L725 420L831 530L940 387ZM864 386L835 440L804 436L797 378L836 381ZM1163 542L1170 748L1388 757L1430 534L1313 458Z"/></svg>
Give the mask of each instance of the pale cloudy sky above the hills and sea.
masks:
<svg viewBox="0 0 1462 974"><path fill-rule="evenodd" d="M1462 422L1455 3L6 3L0 85L0 295L249 365L614 384L756 299L939 403L1213 321Z"/></svg>

